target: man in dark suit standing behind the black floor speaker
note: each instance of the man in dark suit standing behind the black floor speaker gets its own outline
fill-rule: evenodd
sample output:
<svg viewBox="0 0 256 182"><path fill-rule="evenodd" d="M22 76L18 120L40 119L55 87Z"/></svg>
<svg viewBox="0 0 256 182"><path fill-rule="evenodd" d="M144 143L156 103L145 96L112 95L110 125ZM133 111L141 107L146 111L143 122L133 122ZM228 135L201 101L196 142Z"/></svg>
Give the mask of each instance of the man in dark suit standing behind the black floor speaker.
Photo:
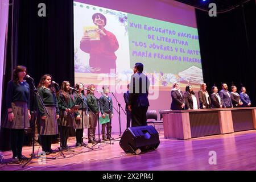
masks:
<svg viewBox="0 0 256 182"><path fill-rule="evenodd" d="M143 64L135 63L129 89L129 105L131 111L131 127L147 126L148 89L150 81L143 72Z"/></svg>

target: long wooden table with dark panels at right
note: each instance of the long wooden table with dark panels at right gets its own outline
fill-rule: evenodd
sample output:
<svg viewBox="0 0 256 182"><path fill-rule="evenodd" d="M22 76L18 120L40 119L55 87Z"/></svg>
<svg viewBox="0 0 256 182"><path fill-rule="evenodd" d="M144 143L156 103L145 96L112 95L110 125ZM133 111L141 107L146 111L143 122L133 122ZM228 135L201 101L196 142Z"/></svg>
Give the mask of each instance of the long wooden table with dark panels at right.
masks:
<svg viewBox="0 0 256 182"><path fill-rule="evenodd" d="M256 107L163 111L165 138L191 139L256 129Z"/></svg>

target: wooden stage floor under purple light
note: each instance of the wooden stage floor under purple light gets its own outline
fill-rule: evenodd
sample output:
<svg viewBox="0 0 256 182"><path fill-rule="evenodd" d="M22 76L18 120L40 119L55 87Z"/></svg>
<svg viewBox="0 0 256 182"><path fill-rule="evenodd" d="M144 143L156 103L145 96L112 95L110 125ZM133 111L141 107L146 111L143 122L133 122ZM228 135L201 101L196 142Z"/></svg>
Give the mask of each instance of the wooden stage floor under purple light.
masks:
<svg viewBox="0 0 256 182"><path fill-rule="evenodd" d="M118 137L118 134L112 137ZM75 137L68 140L74 146ZM256 130L238 133L214 135L189 140L165 139L163 130L160 133L160 145L155 151L144 154L125 154L114 144L97 144L94 150L79 147L75 152L64 152L63 158L57 152L48 155L56 159L41 161L33 159L32 163L22 168L21 164L0 164L0 171L183 171L183 170L256 170ZM91 145L89 145L91 146ZM52 145L57 148L58 143ZM35 147L35 153L42 149ZM216 152L217 164L209 164L210 151ZM23 155L29 156L32 147L24 146ZM0 152L4 162L11 158L11 151Z"/></svg>

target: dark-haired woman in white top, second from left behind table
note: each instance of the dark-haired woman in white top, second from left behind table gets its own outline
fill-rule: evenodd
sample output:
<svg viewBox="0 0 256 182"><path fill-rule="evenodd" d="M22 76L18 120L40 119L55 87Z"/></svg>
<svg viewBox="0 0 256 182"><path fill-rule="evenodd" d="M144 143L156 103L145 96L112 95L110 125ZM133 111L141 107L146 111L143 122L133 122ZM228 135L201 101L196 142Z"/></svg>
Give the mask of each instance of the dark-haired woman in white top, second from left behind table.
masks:
<svg viewBox="0 0 256 182"><path fill-rule="evenodd" d="M187 85L185 90L185 109L198 109L197 98L192 85Z"/></svg>

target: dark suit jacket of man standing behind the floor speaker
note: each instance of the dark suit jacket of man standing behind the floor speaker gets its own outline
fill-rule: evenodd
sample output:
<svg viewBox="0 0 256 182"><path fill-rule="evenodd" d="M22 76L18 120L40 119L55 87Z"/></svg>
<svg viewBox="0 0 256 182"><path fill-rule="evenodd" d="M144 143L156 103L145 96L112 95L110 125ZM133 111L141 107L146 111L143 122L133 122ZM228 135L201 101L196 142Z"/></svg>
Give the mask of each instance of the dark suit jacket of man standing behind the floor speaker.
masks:
<svg viewBox="0 0 256 182"><path fill-rule="evenodd" d="M150 81L143 73L137 72L131 76L129 90L129 105L131 107L148 107L148 89ZM138 88L139 87L139 88Z"/></svg>

